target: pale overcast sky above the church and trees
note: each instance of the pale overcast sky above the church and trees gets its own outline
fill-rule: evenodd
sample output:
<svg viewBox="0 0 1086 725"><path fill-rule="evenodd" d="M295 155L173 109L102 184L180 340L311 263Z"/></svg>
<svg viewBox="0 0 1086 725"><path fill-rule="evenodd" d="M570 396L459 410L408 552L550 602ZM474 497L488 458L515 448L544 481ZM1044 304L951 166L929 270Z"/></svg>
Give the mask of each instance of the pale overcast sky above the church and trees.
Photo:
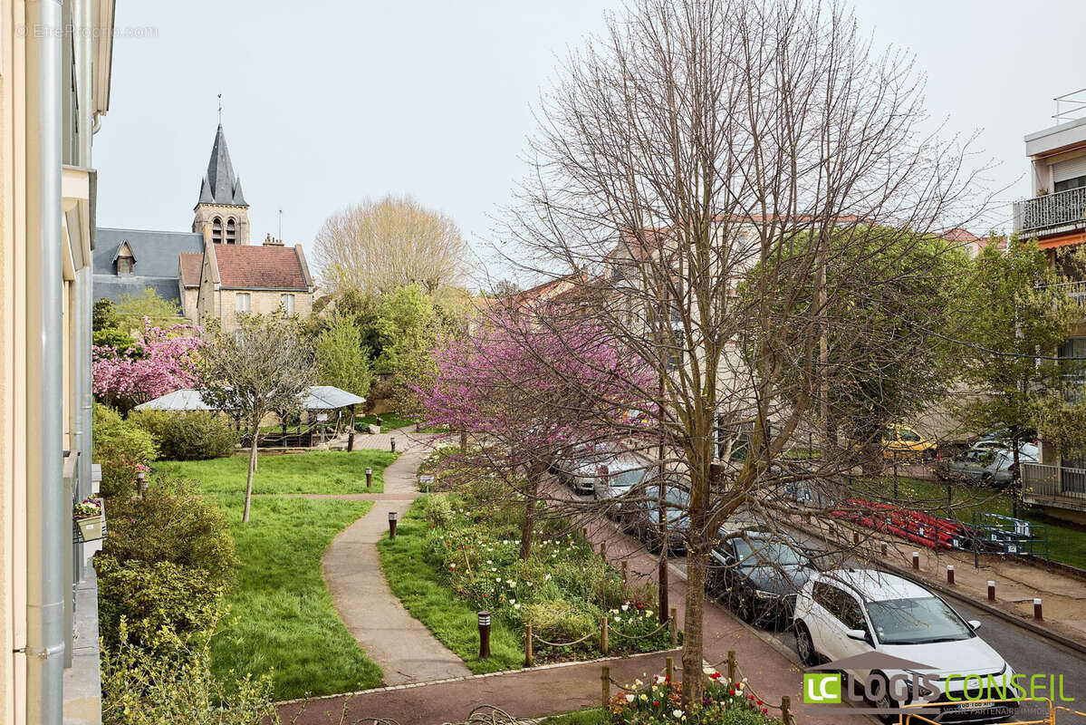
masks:
<svg viewBox="0 0 1086 725"><path fill-rule="evenodd" d="M251 236L313 248L346 204L411 193L469 242L525 172L555 57L619 0L118 0L109 115L94 143L102 226L188 230L223 93ZM927 108L978 148L1010 202L1032 193L1022 137L1086 87L1082 0L862 0L881 43L915 53ZM974 229L982 232L981 229ZM312 254L311 254L312 258Z"/></svg>

